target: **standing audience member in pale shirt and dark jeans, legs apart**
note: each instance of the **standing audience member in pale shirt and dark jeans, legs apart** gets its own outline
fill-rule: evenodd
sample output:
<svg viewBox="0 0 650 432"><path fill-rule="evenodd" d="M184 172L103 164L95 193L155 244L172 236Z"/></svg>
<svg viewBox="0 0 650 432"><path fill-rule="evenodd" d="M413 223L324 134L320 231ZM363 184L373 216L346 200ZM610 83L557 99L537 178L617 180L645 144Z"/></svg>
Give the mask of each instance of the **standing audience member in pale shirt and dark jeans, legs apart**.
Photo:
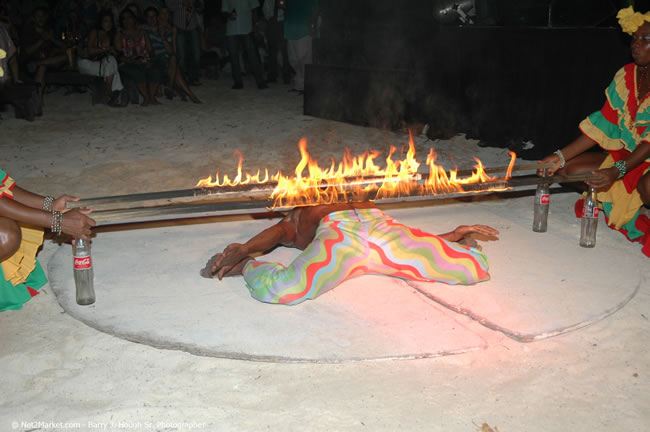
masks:
<svg viewBox="0 0 650 432"><path fill-rule="evenodd" d="M241 89L244 87L242 81L240 46L243 47L248 64L252 69L257 88L267 88L262 66L260 65L259 54L251 36L253 31L253 9L260 7L258 0L223 0L221 11L226 15L226 40L230 52L230 66L232 69L232 88Z"/></svg>

